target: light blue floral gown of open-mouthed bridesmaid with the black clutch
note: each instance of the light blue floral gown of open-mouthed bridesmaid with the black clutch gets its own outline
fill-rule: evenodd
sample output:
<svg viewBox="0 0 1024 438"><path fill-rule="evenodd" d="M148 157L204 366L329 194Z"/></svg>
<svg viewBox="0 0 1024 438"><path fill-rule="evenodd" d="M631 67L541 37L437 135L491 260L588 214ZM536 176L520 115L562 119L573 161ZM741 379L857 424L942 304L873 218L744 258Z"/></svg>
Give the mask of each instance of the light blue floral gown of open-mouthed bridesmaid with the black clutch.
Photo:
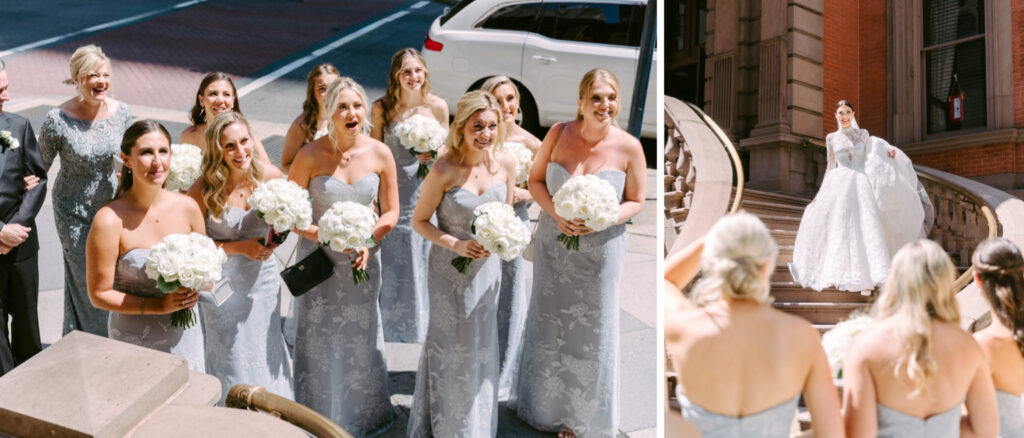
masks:
<svg viewBox="0 0 1024 438"><path fill-rule="evenodd" d="M334 203L372 205L380 178L369 173L351 185L329 175L309 179L313 220ZM298 260L311 253L302 239ZM356 437L391 425L394 409L388 392L384 336L380 323L380 252L371 249L370 279L352 280L352 259L325 248L334 274L299 297L295 336L295 400L315 409Z"/></svg>

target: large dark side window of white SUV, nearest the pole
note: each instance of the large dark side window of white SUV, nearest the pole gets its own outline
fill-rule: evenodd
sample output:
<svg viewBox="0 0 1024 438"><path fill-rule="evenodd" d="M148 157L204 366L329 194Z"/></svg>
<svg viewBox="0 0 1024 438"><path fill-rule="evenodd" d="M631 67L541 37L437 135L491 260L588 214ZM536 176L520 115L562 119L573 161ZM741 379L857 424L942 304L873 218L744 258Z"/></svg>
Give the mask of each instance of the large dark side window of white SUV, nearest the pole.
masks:
<svg viewBox="0 0 1024 438"><path fill-rule="evenodd" d="M545 3L537 32L556 40L639 47L643 11L642 4Z"/></svg>

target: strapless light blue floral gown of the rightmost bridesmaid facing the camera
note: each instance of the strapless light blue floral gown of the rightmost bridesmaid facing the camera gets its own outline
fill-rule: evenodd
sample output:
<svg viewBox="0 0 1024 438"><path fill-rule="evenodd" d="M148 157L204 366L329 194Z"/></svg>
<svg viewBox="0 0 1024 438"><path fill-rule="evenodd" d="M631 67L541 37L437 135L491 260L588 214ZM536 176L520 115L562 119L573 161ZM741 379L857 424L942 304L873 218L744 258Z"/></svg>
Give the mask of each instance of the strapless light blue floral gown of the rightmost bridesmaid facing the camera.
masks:
<svg viewBox="0 0 1024 438"><path fill-rule="evenodd" d="M595 173L622 199L626 173ZM548 163L554 195L571 175ZM534 287L516 385L519 418L536 429L605 437L618 427L618 279L626 225L580 236L579 251L557 240L555 220L541 215L534 248Z"/></svg>

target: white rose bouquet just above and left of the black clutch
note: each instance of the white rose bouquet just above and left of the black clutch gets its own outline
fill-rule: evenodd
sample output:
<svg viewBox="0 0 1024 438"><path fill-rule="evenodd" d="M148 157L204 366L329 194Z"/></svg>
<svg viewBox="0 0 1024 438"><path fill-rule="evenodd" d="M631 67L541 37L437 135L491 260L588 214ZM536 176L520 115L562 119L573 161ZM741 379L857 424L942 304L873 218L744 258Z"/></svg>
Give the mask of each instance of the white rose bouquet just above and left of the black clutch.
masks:
<svg viewBox="0 0 1024 438"><path fill-rule="evenodd" d="M249 206L270 225L261 244L273 248L285 242L292 228L306 229L312 223L313 208L309 192L293 181L274 178L265 181L249 195Z"/></svg>

